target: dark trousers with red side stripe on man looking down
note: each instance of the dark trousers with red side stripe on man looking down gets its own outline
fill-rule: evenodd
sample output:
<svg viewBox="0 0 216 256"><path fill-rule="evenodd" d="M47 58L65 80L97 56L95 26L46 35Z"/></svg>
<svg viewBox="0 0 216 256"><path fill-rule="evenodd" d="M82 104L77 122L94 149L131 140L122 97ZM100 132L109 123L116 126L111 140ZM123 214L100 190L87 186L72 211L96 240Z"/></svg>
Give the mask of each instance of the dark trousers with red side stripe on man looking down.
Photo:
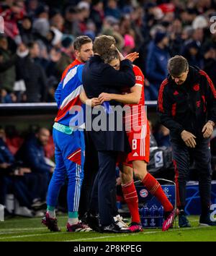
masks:
<svg viewBox="0 0 216 256"><path fill-rule="evenodd" d="M211 200L212 168L210 140L203 139L197 142L196 148L189 148L184 142L171 140L171 146L175 167L178 208L184 209L186 204L186 181L189 175L190 158L192 157L199 174L199 195L202 214L206 214L210 208Z"/></svg>

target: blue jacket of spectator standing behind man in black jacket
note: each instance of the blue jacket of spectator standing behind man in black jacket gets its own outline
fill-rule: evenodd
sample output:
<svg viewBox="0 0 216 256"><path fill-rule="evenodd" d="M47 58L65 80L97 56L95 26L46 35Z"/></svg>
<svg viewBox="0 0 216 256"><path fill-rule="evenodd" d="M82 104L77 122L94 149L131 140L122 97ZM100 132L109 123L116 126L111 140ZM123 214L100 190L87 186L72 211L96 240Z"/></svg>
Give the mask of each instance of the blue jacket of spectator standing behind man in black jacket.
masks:
<svg viewBox="0 0 216 256"><path fill-rule="evenodd" d="M152 85L161 85L166 78L167 64L170 55L167 49L161 49L155 43L150 43L147 55L146 76Z"/></svg>

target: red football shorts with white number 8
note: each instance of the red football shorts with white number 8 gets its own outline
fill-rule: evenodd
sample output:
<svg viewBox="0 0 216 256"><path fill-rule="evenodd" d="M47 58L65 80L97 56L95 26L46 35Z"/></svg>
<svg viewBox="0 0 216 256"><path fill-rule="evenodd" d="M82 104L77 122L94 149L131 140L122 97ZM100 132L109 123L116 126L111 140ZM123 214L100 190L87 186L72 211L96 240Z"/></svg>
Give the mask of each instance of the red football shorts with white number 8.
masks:
<svg viewBox="0 0 216 256"><path fill-rule="evenodd" d="M150 155L150 132L148 121L142 127L137 127L136 131L127 132L127 138L132 151L127 155L123 164L132 166L132 161L149 162Z"/></svg>

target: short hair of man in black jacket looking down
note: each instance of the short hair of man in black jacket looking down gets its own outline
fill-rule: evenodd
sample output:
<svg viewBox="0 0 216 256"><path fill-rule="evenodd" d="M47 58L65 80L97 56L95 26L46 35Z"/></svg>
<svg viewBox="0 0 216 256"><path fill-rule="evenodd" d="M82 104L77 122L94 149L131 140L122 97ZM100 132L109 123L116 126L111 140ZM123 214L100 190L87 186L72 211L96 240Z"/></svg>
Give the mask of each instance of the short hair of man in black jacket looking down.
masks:
<svg viewBox="0 0 216 256"><path fill-rule="evenodd" d="M189 68L187 60L180 55L176 55L169 59L167 69L169 74L173 77L179 77Z"/></svg>

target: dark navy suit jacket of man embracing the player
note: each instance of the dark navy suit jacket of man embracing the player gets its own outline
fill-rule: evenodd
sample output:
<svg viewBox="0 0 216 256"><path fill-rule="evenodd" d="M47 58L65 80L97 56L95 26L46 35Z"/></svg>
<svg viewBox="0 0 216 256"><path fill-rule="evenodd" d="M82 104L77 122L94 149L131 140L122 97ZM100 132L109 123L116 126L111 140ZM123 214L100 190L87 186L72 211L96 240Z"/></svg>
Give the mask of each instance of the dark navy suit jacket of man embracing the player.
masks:
<svg viewBox="0 0 216 256"><path fill-rule="evenodd" d="M100 93L121 93L122 88L134 86L135 74L132 71L132 64L129 60L121 61L120 71L117 71L109 64L104 64L102 59L95 55L84 65L82 80L87 97L94 98L98 97ZM116 101L111 101L110 105L121 106L121 104ZM102 112L103 111L104 108L102 108ZM108 131L110 114L105 111L103 114L104 113L106 116L104 121L107 121L107 129L91 131L91 137L96 146L96 150L130 152L125 126L122 125L123 129L117 130L117 111L114 111L115 125L112 131ZM92 124L94 124L98 116L99 114L91 115ZM87 122L88 116L86 119L86 123Z"/></svg>

